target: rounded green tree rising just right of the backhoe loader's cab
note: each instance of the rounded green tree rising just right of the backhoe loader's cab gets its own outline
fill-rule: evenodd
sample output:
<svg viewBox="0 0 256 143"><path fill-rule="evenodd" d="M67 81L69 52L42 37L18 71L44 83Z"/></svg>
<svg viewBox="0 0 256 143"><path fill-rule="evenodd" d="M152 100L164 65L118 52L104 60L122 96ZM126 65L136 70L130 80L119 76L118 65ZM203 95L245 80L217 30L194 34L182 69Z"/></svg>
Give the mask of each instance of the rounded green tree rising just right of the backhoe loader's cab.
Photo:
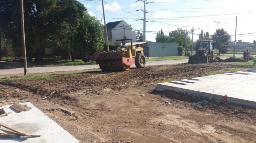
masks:
<svg viewBox="0 0 256 143"><path fill-rule="evenodd" d="M226 49L230 47L230 39L231 36L222 28L217 29L216 32L214 32L211 40L215 41L216 48L218 48L221 53L224 53Z"/></svg>

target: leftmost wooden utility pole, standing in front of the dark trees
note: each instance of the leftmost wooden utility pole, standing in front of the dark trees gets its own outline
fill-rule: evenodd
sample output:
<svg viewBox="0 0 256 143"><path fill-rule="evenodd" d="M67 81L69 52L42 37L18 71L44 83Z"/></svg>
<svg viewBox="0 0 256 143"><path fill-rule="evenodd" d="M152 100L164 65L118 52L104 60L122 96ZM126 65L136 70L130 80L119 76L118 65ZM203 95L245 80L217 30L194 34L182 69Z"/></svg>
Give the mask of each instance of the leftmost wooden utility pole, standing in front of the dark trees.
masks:
<svg viewBox="0 0 256 143"><path fill-rule="evenodd" d="M24 11L23 0L20 0L20 15L21 15L21 36L22 36L22 48L23 48L23 61L24 61L24 76L27 75L27 55L26 55L26 42L25 42L25 30L24 30Z"/></svg>

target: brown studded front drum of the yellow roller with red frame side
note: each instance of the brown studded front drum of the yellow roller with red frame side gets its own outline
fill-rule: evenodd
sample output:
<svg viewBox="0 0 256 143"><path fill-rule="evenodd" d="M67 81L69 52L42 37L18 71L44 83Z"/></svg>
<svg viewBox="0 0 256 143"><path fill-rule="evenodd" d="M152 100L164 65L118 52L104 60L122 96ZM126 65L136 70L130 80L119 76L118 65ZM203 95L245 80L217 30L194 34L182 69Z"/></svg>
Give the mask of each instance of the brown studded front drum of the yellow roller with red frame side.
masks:
<svg viewBox="0 0 256 143"><path fill-rule="evenodd" d="M126 50L109 51L100 54L96 63L102 71L126 71L134 64L134 58L129 58Z"/></svg>

